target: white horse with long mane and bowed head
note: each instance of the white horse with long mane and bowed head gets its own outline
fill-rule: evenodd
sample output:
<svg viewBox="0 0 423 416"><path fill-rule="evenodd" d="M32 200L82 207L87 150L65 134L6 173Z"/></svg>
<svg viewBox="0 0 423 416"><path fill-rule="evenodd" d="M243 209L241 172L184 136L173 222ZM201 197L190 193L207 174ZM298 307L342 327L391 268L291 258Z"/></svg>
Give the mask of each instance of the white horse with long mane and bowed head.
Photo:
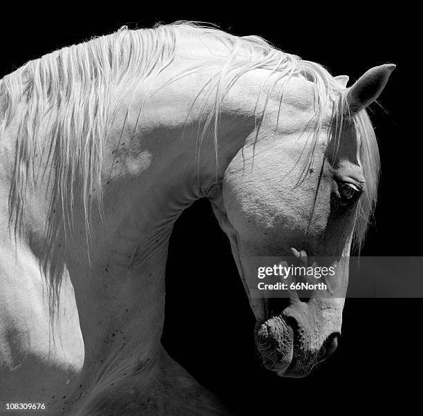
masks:
<svg viewBox="0 0 423 416"><path fill-rule="evenodd" d="M0 401L224 413L160 345L173 223L209 198L247 294L251 256L348 256L377 196L365 108L393 68L346 88L259 37L182 22L123 28L4 77ZM301 377L336 348L348 268L333 279L341 296L250 297L267 368Z"/></svg>

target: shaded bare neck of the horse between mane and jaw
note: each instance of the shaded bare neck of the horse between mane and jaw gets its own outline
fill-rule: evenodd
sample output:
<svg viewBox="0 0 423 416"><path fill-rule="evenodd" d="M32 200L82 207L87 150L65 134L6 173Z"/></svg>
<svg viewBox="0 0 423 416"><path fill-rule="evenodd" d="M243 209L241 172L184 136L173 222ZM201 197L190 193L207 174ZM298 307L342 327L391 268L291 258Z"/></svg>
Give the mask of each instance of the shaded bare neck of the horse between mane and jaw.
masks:
<svg viewBox="0 0 423 416"><path fill-rule="evenodd" d="M122 106L116 118L124 120L126 108L130 108L127 126L122 138L115 134L107 142L104 212L102 217L100 213L93 216L88 250L83 222L74 231L77 237L66 267L75 288L87 369L99 361L109 367L119 363L116 367L122 368L118 362L122 359L126 366L136 366L156 357L173 223L216 179L223 178L225 167L254 129L253 115L237 111L243 103L236 98L227 100L220 117L216 168L213 133L205 135L198 154L198 122L186 125L187 112L203 82L198 76L182 81L169 84L147 100L139 138L131 134L143 94L135 93L131 106ZM244 87L234 91L233 97ZM118 124L115 131L122 131L122 126Z"/></svg>

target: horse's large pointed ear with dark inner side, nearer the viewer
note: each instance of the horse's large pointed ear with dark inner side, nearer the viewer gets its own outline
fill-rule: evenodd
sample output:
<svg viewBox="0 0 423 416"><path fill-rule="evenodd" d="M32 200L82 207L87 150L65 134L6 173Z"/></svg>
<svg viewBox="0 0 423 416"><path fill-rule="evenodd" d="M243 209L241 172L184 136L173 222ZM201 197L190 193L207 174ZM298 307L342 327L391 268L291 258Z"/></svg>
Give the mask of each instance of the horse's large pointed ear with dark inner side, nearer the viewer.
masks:
<svg viewBox="0 0 423 416"><path fill-rule="evenodd" d="M348 89L347 102L351 114L366 108L379 97L394 69L394 64L375 66Z"/></svg>

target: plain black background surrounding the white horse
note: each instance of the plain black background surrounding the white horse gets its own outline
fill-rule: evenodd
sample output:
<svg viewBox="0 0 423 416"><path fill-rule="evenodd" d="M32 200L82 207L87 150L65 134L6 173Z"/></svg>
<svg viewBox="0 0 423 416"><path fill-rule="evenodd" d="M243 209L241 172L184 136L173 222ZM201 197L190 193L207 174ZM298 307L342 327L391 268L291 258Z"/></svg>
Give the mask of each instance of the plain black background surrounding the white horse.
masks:
<svg viewBox="0 0 423 416"><path fill-rule="evenodd" d="M264 7L264 5L263 5ZM207 9L206 9L207 10ZM40 10L38 10L39 12ZM26 15L30 12L26 10ZM422 183L419 26L415 10L346 10L300 5L241 12L135 12L31 17L1 25L1 76L57 48L104 35L127 24L151 27L179 19L209 21L234 35L261 35L274 46L328 67L350 82L372 66L397 64L378 106L370 108L382 159L375 219L361 255L417 256ZM404 278L406 276L398 276ZM177 221L167 264L167 311L162 342L169 354L240 413L334 411L360 406L403 406L415 398L421 370L421 299L347 299L337 352L306 379L283 379L261 366L254 316L227 238L207 200Z"/></svg>

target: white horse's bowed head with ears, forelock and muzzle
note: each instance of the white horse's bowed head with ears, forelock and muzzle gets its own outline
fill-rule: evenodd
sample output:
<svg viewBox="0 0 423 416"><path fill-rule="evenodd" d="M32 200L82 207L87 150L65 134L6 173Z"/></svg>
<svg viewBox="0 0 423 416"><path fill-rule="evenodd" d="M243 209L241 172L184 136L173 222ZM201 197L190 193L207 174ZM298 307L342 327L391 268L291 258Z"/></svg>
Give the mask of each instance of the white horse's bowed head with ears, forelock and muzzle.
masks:
<svg viewBox="0 0 423 416"><path fill-rule="evenodd" d="M377 195L379 153L364 108L394 68L372 68L350 88L346 77L333 78L339 97L319 120L316 84L292 77L274 107L276 128L274 117L263 121L229 163L222 190L212 198L250 294L256 345L265 367L278 375L306 376L337 348L348 256L354 236L364 236ZM271 113L272 100L269 106ZM303 265L332 258L336 272L326 279L328 290L311 290L306 300L295 290L285 299L256 298L256 256L291 256Z"/></svg>

